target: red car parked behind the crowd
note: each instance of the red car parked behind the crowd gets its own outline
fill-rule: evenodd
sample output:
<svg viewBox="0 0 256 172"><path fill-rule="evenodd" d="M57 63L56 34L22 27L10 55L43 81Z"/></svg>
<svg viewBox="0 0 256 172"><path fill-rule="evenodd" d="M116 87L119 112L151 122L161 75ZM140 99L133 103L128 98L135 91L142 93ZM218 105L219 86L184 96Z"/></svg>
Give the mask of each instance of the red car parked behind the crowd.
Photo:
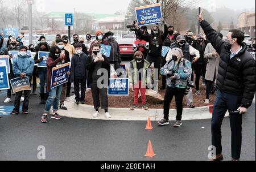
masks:
<svg viewBox="0 0 256 172"><path fill-rule="evenodd" d="M120 47L120 54L121 54L121 59L123 58L131 58L133 59L133 44L135 38L121 38L119 39L118 45Z"/></svg>

